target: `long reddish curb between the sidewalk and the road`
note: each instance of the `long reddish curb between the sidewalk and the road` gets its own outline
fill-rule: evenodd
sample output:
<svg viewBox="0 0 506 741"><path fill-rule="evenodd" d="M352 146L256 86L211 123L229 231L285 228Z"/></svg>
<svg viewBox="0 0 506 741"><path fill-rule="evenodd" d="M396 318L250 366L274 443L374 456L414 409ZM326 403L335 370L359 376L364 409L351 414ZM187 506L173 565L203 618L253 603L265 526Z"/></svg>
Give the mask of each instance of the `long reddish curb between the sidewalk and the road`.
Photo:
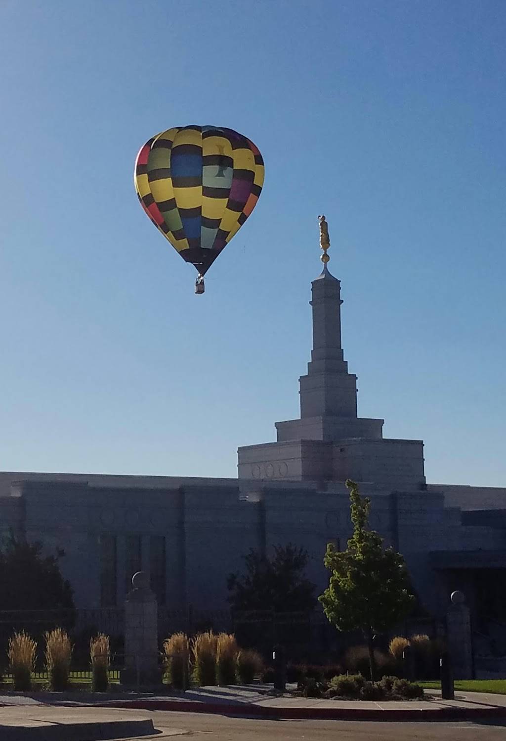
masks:
<svg viewBox="0 0 506 741"><path fill-rule="evenodd" d="M176 713L205 713L210 715L242 715L247 717L279 718L281 720L478 720L506 719L506 707L489 708L427 708L423 710L380 710L369 708L276 708L272 705L249 705L246 702L229 705L220 702L192 702L189 700L127 700L107 702L107 708L135 708L163 710Z"/></svg>

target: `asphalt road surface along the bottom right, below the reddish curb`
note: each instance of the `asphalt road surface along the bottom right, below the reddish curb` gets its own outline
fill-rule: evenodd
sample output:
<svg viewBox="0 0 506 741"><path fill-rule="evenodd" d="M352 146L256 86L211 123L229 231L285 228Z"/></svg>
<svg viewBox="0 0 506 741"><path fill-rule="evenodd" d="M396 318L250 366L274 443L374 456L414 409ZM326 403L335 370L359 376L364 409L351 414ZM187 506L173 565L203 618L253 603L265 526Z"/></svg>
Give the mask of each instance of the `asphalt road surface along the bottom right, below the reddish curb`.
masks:
<svg viewBox="0 0 506 741"><path fill-rule="evenodd" d="M155 728L181 731L202 741L505 741L506 725L468 722L388 723L341 720L259 720L201 715L152 714ZM176 731L177 732L177 731ZM180 736L175 736L177 739Z"/></svg>

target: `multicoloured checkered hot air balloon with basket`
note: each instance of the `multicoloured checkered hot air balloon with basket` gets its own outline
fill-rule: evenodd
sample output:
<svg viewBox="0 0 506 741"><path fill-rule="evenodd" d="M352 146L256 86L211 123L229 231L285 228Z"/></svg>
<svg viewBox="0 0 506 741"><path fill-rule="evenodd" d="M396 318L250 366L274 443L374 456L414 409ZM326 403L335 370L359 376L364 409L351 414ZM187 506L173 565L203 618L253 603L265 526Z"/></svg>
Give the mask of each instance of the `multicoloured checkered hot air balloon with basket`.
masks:
<svg viewBox="0 0 506 741"><path fill-rule="evenodd" d="M258 147L227 128L175 127L141 147L135 190L149 219L195 265L195 293L257 204L263 170Z"/></svg>

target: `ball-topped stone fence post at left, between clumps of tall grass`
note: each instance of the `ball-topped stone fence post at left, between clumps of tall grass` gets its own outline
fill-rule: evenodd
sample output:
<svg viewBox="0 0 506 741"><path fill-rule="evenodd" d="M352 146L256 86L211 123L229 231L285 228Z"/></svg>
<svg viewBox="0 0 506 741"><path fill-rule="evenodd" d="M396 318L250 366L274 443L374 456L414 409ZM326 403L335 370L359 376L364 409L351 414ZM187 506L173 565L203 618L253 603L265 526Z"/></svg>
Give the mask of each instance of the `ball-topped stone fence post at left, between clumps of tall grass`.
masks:
<svg viewBox="0 0 506 741"><path fill-rule="evenodd" d="M121 683L157 685L162 673L158 662L158 604L144 571L132 576L132 591L125 600L125 668Z"/></svg>

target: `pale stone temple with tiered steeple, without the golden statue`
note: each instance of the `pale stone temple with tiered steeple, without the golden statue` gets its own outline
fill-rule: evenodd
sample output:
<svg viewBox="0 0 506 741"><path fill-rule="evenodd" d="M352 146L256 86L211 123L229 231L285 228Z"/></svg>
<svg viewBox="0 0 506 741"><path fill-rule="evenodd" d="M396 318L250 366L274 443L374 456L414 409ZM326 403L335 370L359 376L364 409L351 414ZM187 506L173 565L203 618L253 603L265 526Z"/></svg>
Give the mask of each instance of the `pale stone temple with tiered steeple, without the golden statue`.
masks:
<svg viewBox="0 0 506 741"><path fill-rule="evenodd" d="M250 548L302 545L308 577L323 590L325 546L344 548L351 533L344 482L354 479L428 612L445 611L451 591L462 590L474 624L506 654L506 488L427 483L421 440L385 439L382 419L357 416L340 296L325 262L311 284L300 418L277 422L276 442L239 448L237 479L4 472L1 530L64 548L78 607L121 605L142 569L159 604L220 609L226 577Z"/></svg>

